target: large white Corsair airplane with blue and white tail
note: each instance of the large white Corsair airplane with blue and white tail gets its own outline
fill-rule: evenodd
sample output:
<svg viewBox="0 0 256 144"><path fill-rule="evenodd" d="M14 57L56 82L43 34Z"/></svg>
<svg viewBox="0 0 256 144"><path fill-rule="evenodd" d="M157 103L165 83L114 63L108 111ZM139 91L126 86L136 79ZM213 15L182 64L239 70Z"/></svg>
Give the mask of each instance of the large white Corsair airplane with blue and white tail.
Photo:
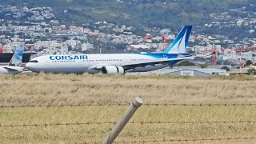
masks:
<svg viewBox="0 0 256 144"><path fill-rule="evenodd" d="M186 53L192 26L184 26L177 38L161 53L140 54L59 54L33 58L26 69L52 74L125 74L162 69L195 56Z"/></svg>

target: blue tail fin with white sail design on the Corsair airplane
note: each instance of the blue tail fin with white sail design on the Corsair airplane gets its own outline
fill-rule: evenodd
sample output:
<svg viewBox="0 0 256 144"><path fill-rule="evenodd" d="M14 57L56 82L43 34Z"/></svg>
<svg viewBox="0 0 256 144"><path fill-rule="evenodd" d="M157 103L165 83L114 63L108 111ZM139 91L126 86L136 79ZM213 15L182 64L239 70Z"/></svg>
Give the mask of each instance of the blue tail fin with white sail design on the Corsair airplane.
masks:
<svg viewBox="0 0 256 144"><path fill-rule="evenodd" d="M191 30L192 26L184 26L183 29L179 32L178 36L174 39L174 42L172 42L170 46L165 51L163 51L163 53L186 53L186 46L189 42Z"/></svg>

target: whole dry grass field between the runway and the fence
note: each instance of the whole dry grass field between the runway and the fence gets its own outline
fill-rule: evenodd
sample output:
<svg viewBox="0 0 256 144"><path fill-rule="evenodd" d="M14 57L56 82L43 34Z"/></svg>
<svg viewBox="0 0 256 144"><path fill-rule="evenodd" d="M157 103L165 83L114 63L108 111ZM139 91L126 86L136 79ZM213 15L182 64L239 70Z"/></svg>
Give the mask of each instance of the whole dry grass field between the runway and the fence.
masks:
<svg viewBox="0 0 256 144"><path fill-rule="evenodd" d="M0 108L0 142L102 142L114 126L114 123L108 122L117 121L127 108L125 105L107 105L128 104L134 97L141 97L144 103L160 105L141 106L116 142L250 138L256 134L256 105L164 106L161 104L256 104L255 90L256 78L250 76L189 78L101 74L0 75L0 106L50 106ZM86 104L104 106L62 106ZM74 125L22 126L65 123ZM75 125L76 123L82 124ZM202 142L255 143L256 138L174 143Z"/></svg>

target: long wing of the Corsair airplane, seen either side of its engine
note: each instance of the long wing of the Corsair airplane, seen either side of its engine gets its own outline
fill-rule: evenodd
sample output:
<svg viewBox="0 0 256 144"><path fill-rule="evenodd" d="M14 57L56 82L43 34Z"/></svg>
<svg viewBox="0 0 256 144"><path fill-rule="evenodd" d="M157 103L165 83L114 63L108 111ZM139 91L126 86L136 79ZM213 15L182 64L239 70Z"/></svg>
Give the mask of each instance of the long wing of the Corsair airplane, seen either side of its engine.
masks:
<svg viewBox="0 0 256 144"><path fill-rule="evenodd" d="M148 65L154 66L156 64L167 64L168 62L171 62L171 61L179 61L179 60L193 59L193 58L194 56L181 57L181 58L157 58L157 59L149 59L149 60L139 61L139 62L124 62L118 66L122 66L124 70L129 70L135 67L143 67ZM90 67L90 69L100 70L102 69L102 66L107 66L107 65L102 64L98 66L93 66L93 67Z"/></svg>

